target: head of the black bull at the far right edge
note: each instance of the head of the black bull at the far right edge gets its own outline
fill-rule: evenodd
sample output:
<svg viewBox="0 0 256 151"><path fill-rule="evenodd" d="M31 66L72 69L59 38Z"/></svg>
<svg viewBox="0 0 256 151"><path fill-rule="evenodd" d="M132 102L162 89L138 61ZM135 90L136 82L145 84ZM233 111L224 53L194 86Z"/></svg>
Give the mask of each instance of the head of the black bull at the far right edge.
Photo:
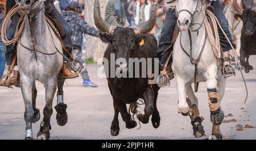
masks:
<svg viewBox="0 0 256 151"><path fill-rule="evenodd" d="M256 31L256 9L253 8L253 3L249 5L242 1L243 3L243 12L242 12L242 20L243 20L243 28L245 29L246 35L254 35Z"/></svg>

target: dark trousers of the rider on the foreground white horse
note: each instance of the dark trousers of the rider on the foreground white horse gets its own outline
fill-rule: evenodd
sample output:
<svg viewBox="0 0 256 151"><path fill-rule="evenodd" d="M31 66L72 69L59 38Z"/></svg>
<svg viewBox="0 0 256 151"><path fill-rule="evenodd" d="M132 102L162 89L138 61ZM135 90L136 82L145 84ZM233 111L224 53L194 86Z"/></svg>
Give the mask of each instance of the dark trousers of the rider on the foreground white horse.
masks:
<svg viewBox="0 0 256 151"><path fill-rule="evenodd" d="M218 22L220 22L222 29L228 36L229 40L232 41L232 36L229 31L228 20L225 17L221 3L217 0L217 1L213 1L211 5L214 8L214 14L218 19ZM159 61L161 64L165 64L167 61L167 58L170 55L170 51L166 51L163 55L161 54L171 45L176 22L177 22L177 17L174 15L174 12L171 9L168 9L166 14L166 20L164 21L164 26L162 28L159 45L158 45L157 56L159 57ZM226 39L226 37L224 36L220 28L218 28L218 34L220 36L220 44L221 44L222 51L226 52L231 50L232 47L229 45L228 40ZM234 48L236 48L236 44L232 43L232 45ZM170 63L172 63L172 59L170 59L169 64Z"/></svg>

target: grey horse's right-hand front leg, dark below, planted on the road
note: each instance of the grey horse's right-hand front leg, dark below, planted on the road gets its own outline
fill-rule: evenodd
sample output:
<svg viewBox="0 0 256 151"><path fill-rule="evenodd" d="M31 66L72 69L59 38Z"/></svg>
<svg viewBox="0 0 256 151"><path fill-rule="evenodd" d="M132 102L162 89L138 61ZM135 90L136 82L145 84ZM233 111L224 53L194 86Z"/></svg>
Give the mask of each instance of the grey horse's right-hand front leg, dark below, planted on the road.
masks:
<svg viewBox="0 0 256 151"><path fill-rule="evenodd" d="M56 77L48 78L46 81L46 106L44 107L44 119L41 121L38 139L49 139L51 129L50 120L52 115L52 100L57 89Z"/></svg>

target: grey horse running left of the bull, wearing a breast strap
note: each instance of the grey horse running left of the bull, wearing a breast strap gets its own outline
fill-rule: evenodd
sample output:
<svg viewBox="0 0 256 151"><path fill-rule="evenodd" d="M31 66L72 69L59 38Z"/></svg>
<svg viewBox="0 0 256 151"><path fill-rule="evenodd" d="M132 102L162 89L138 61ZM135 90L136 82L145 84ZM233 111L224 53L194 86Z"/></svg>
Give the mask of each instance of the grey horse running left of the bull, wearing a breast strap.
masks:
<svg viewBox="0 0 256 151"><path fill-rule="evenodd" d="M63 65L61 42L46 22L43 0L16 0L16 3L20 7L21 14L25 15L24 31L17 45L20 88L25 104L25 139L33 139L32 123L40 119L39 109L36 108L36 80L42 82L46 88L44 118L40 123L37 136L38 139L49 139L50 119L53 112L52 101L57 86L59 89L57 103L63 103L64 79L57 77ZM65 125L67 113L64 111L65 116L62 118L60 114L57 112L57 123Z"/></svg>

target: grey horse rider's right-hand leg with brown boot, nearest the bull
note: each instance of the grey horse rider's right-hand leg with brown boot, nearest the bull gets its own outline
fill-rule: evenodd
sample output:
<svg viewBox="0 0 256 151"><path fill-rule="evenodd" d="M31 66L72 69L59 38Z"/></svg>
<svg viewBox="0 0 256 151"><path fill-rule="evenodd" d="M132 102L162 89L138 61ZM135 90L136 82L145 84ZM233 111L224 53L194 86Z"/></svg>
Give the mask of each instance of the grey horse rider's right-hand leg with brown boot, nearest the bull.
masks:
<svg viewBox="0 0 256 151"><path fill-rule="evenodd" d="M64 47L67 49L69 54L72 54L72 31L71 28L69 27L69 24L66 22L64 19L63 15L60 14L60 12L56 9L56 7L53 5L52 2L50 2L52 5L52 10L51 12L48 12L48 15L51 16L51 18L55 19L56 22L60 23L64 29L65 29L65 35L62 38ZM64 53L65 54L65 53ZM69 55L65 55L68 56ZM63 58L64 64L63 64L63 73L60 73L60 76L64 76L64 78L76 78L79 75L77 73L72 73L70 70L66 68L66 63L67 60Z"/></svg>

